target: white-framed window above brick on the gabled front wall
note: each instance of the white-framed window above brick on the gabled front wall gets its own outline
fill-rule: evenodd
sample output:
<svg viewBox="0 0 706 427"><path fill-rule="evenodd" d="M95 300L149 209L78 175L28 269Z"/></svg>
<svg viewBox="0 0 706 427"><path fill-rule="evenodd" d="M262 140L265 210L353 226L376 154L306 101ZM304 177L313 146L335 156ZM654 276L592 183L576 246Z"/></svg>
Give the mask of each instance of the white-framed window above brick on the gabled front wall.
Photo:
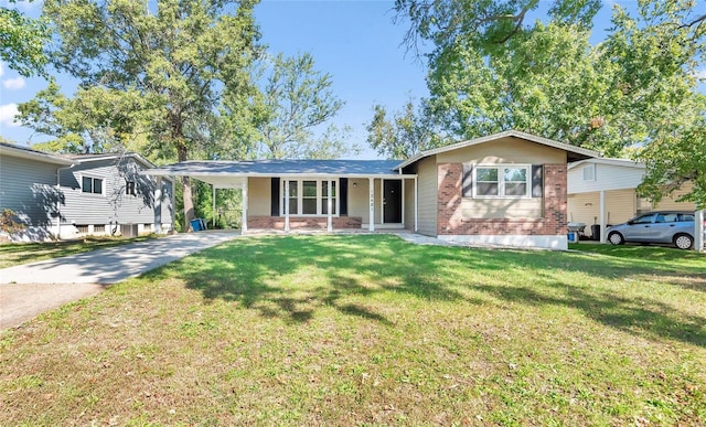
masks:
<svg viewBox="0 0 706 427"><path fill-rule="evenodd" d="M530 198L530 166L474 168L474 198Z"/></svg>

